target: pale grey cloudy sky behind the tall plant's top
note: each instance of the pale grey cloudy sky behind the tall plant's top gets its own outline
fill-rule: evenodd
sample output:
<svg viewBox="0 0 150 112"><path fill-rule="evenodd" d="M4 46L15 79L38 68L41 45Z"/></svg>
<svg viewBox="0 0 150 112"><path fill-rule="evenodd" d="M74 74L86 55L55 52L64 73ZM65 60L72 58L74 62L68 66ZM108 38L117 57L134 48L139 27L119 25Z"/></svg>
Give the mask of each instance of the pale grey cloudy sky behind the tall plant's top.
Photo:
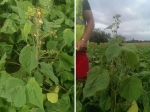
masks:
<svg viewBox="0 0 150 112"><path fill-rule="evenodd" d="M104 30L120 14L121 34L126 40L150 40L150 0L88 0L95 20L95 28ZM108 29L105 32L111 33Z"/></svg>

